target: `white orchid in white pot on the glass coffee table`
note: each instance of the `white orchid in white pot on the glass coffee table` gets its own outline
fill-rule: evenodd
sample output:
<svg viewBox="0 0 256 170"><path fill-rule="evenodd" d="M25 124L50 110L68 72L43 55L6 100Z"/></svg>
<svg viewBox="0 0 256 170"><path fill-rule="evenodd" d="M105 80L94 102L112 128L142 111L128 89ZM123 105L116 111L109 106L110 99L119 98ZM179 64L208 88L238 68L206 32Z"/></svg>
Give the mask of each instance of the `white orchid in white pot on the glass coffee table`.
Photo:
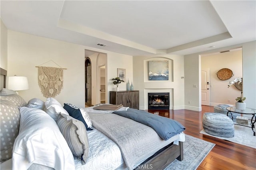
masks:
<svg viewBox="0 0 256 170"><path fill-rule="evenodd" d="M243 78L236 78L229 82L228 87L233 85L234 83L240 84L241 83L241 96L236 98L236 109L238 110L245 110L246 103L244 103L246 97L243 96Z"/></svg>

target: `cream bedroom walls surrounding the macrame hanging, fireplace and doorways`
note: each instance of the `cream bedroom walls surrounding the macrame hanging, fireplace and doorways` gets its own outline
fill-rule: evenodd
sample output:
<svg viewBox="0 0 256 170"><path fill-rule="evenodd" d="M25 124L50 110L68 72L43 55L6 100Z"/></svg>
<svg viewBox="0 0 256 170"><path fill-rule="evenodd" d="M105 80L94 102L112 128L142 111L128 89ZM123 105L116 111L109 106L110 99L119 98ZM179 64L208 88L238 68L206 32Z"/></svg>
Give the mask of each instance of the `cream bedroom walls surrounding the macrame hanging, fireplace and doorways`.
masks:
<svg viewBox="0 0 256 170"><path fill-rule="evenodd" d="M1 24L1 30L2 28ZM146 92L144 89L155 89L157 86L156 83L144 81L144 76L146 74L144 71L144 61L154 57L172 59L174 67L174 82L163 83L163 87L161 88L173 89L170 90L174 97L173 109L185 108L200 111L200 55L242 47L244 96L247 98L246 105L247 107L256 108L255 41L185 55L184 57L182 55L150 55L132 57L130 55L42 38L11 30L8 30L8 36L6 35L6 37L8 38L8 76L16 74L28 77L30 89L20 91L20 95L24 97L26 101L33 97L45 100L45 97L42 96L38 86L38 73L35 66L41 65L46 61L53 60L61 67L67 68L67 70L64 70L64 89L62 89L60 95L56 96L56 99L59 100L62 105L64 102L69 102L81 107L84 106L84 49L88 49L107 54L108 91L115 87L111 79L116 77L117 68L126 69L126 77L130 79L130 82L133 81L135 90L140 90L140 109L146 108ZM5 47L7 47L7 45L5 45ZM56 65L51 62L44 66L56 67ZM185 78L180 79L182 76ZM195 88L194 85L197 85L197 87ZM126 83L121 83L119 87L120 90L125 90ZM109 100L109 96L107 98ZM191 104L188 104L188 101L190 101Z"/></svg>

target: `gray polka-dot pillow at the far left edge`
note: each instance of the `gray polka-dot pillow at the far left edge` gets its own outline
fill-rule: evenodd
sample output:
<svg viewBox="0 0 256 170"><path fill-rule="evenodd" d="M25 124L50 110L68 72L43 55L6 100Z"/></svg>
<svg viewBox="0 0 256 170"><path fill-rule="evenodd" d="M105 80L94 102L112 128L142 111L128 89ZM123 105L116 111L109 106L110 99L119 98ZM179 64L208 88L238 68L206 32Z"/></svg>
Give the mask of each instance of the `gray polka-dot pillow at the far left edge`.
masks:
<svg viewBox="0 0 256 170"><path fill-rule="evenodd" d="M0 103L0 161L2 162L12 158L14 140L19 133L20 112L10 101L1 98Z"/></svg>

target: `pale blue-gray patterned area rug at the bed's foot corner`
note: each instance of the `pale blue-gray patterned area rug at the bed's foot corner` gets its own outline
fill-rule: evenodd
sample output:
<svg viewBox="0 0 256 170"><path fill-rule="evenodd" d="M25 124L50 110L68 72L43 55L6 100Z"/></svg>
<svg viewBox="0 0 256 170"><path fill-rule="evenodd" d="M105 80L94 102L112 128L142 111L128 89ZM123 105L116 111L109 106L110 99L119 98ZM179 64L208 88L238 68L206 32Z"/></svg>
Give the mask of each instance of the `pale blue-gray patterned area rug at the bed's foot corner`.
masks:
<svg viewBox="0 0 256 170"><path fill-rule="evenodd" d="M195 170L214 145L214 143L186 134L185 142L183 142L183 160L174 160L164 170Z"/></svg>

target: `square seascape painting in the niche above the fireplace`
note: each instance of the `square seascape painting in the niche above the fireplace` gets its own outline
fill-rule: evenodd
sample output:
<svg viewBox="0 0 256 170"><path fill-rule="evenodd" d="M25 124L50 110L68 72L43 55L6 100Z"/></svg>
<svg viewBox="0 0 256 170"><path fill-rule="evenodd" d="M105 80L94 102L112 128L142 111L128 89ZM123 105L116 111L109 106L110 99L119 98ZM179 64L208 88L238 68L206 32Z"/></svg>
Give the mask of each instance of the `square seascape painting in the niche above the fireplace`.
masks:
<svg viewBox="0 0 256 170"><path fill-rule="evenodd" d="M148 80L169 80L169 61L148 61Z"/></svg>

